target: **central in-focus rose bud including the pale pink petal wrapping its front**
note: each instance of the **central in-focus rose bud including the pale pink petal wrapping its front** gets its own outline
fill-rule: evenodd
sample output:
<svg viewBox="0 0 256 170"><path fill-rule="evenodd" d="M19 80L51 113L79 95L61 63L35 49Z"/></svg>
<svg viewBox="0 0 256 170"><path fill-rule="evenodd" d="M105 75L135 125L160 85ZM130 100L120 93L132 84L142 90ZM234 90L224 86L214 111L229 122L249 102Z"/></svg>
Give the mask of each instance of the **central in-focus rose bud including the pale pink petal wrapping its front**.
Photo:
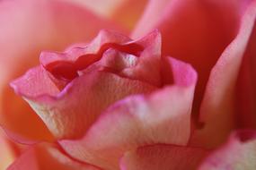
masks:
<svg viewBox="0 0 256 170"><path fill-rule="evenodd" d="M157 31L132 41L102 30L86 47L41 53L40 63L12 87L71 156L118 169L129 149L188 142L196 73L187 64L161 57ZM78 154L82 148L88 156Z"/></svg>

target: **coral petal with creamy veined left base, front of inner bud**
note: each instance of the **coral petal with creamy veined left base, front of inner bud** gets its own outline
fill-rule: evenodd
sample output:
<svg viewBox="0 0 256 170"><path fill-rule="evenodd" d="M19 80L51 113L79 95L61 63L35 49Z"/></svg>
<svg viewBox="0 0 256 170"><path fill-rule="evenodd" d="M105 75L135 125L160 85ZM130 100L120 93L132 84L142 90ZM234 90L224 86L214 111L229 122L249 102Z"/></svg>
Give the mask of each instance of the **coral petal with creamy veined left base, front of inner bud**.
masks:
<svg viewBox="0 0 256 170"><path fill-rule="evenodd" d="M34 83L27 81L26 77L25 75L13 81L13 89L28 100L58 139L80 137L111 103L131 94L147 93L155 89L141 81L121 78L108 72L92 71L70 82L57 96L30 96L20 86L27 83L26 87L31 87L30 83ZM45 84L40 83L43 86Z"/></svg>

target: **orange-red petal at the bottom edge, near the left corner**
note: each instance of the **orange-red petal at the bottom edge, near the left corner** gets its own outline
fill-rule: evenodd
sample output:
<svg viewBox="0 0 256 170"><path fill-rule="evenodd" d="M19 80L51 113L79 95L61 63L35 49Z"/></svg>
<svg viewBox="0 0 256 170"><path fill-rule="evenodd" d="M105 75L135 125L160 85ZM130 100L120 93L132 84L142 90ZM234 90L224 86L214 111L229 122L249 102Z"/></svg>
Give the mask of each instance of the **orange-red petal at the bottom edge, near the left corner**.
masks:
<svg viewBox="0 0 256 170"><path fill-rule="evenodd" d="M18 157L8 170L100 170L95 166L79 163L57 149L45 143L32 146Z"/></svg>

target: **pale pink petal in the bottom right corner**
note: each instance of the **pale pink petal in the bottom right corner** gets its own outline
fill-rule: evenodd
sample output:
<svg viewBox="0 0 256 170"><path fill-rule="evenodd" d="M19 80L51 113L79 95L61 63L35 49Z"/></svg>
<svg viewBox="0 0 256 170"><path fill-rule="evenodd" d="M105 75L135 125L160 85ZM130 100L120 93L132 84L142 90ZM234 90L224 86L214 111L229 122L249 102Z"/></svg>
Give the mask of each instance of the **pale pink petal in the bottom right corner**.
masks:
<svg viewBox="0 0 256 170"><path fill-rule="evenodd" d="M255 169L256 133L235 132L220 149L216 149L200 166L199 170Z"/></svg>

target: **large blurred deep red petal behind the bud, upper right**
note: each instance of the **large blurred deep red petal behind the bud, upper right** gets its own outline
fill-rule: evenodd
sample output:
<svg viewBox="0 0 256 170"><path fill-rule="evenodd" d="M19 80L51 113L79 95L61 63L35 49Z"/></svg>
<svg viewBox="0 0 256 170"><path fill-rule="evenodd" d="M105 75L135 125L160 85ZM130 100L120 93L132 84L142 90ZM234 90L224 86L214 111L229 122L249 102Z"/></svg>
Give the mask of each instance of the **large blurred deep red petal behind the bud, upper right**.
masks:
<svg viewBox="0 0 256 170"><path fill-rule="evenodd" d="M209 73L225 47L235 37L249 2L152 0L152 5L147 6L145 15L133 33L133 38L137 38L155 28L159 29L163 36L163 55L172 55L188 62L199 72L193 106L195 115L199 115ZM159 8L162 13L159 13ZM152 20L154 15L157 16L156 21Z"/></svg>

